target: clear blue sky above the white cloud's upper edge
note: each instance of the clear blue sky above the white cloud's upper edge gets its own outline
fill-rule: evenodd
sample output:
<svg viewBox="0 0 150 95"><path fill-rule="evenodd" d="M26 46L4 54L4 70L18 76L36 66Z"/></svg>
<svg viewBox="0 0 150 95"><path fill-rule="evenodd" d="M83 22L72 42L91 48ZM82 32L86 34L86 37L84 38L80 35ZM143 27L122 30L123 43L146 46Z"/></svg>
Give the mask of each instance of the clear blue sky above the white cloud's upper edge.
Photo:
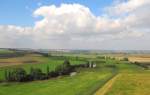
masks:
<svg viewBox="0 0 150 95"><path fill-rule="evenodd" d="M113 0L1 0L0 24L33 26L35 18L33 11L43 5L56 5L62 3L78 3L87 6L94 15L101 15L103 8L109 6ZM42 5L41 5L42 4Z"/></svg>

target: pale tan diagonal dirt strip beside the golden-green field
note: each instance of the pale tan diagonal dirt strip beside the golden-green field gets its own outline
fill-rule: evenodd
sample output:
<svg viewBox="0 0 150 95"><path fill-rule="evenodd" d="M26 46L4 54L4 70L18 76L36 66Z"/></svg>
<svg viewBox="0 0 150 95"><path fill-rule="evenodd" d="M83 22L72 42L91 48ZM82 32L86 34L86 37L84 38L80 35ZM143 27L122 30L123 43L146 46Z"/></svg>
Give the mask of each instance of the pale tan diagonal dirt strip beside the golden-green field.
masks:
<svg viewBox="0 0 150 95"><path fill-rule="evenodd" d="M112 87L113 83L117 79L120 74L114 76L111 80L109 80L102 88L96 91L94 95L105 95L106 92Z"/></svg>

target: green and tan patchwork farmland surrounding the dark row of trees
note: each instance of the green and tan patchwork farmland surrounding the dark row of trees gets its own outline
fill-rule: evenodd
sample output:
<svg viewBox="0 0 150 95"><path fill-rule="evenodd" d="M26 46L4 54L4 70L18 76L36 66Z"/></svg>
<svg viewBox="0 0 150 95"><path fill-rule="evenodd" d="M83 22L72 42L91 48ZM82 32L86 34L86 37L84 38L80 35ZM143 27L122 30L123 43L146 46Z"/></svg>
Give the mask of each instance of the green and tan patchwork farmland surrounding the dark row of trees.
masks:
<svg viewBox="0 0 150 95"><path fill-rule="evenodd" d="M1 54L8 53L14 52L3 51ZM92 53L51 53L50 56L43 56L26 53L0 58L0 95L148 95L150 71L133 64L133 61L120 60L114 56L116 55ZM46 67L49 66L50 71L54 71L65 59L68 59L71 65L84 64L85 61L91 60L96 63L96 68L77 68L77 74L74 76L58 76L48 80L22 83L4 81L5 70L24 68L29 73L33 67L46 72Z"/></svg>

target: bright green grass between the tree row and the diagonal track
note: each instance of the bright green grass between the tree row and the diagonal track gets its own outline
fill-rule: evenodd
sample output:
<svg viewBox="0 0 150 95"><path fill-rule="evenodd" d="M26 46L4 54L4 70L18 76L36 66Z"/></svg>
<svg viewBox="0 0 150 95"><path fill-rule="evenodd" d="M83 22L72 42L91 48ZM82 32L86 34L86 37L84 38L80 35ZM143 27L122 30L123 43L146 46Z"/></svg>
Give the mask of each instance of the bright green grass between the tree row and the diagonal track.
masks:
<svg viewBox="0 0 150 95"><path fill-rule="evenodd" d="M111 69L84 69L72 77L29 83L2 83L0 95L91 95L112 76ZM102 85L101 85L102 86Z"/></svg>

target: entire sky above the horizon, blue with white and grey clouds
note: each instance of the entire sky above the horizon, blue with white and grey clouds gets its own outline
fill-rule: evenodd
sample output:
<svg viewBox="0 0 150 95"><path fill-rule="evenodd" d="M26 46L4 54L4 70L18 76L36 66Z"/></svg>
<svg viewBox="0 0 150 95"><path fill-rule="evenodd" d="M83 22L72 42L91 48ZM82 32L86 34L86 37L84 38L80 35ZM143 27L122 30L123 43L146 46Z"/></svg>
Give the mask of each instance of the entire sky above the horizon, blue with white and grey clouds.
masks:
<svg viewBox="0 0 150 95"><path fill-rule="evenodd" d="M150 0L1 0L0 47L150 50Z"/></svg>

